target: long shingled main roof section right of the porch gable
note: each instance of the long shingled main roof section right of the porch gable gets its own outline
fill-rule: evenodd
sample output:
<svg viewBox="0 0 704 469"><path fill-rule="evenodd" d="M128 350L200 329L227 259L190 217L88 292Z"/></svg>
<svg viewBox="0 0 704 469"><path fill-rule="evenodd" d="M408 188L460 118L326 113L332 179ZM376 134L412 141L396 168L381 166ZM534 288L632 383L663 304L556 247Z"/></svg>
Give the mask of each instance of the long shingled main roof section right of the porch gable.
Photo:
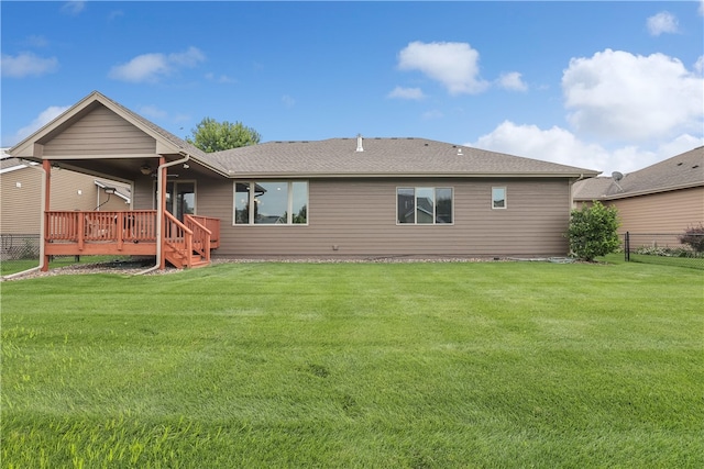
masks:
<svg viewBox="0 0 704 469"><path fill-rule="evenodd" d="M597 171L426 138L268 142L207 154L231 177L596 176Z"/></svg>

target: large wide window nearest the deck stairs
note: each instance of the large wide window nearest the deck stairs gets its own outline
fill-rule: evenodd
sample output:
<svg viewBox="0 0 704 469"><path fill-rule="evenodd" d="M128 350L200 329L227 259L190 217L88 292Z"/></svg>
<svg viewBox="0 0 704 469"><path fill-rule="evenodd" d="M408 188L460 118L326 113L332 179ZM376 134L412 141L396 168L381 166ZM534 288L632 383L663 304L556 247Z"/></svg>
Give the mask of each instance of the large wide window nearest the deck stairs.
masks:
<svg viewBox="0 0 704 469"><path fill-rule="evenodd" d="M234 183L235 225L308 224L307 181Z"/></svg>

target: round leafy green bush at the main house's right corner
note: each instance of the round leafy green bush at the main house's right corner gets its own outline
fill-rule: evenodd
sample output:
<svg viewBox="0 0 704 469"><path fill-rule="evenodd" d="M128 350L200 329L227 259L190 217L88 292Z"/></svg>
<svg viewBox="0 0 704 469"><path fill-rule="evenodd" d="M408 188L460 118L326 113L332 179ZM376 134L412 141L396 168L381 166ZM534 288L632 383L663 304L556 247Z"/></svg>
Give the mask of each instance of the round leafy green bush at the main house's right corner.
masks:
<svg viewBox="0 0 704 469"><path fill-rule="evenodd" d="M583 205L572 210L568 238L570 250L580 259L592 261L597 256L615 253L618 239L618 211L615 206L604 206L594 201L592 206Z"/></svg>

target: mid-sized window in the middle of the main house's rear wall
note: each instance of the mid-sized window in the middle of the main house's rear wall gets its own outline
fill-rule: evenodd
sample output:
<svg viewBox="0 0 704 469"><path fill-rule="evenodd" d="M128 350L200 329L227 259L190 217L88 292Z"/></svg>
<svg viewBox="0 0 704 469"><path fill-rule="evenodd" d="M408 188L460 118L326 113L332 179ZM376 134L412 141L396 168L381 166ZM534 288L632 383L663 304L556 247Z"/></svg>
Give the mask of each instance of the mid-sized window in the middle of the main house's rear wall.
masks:
<svg viewBox="0 0 704 469"><path fill-rule="evenodd" d="M398 224L433 225L452 223L451 188L397 188Z"/></svg>

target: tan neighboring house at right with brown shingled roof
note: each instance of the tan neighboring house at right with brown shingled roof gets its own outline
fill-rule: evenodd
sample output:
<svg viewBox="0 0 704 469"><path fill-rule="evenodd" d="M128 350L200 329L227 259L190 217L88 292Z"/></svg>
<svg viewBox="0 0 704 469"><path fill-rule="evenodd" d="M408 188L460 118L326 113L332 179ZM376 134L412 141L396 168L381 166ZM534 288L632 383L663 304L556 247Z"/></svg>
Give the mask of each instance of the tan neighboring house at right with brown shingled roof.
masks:
<svg viewBox="0 0 704 469"><path fill-rule="evenodd" d="M595 200L618 209L620 233L682 233L704 223L704 146L627 175L574 185L578 206Z"/></svg>

